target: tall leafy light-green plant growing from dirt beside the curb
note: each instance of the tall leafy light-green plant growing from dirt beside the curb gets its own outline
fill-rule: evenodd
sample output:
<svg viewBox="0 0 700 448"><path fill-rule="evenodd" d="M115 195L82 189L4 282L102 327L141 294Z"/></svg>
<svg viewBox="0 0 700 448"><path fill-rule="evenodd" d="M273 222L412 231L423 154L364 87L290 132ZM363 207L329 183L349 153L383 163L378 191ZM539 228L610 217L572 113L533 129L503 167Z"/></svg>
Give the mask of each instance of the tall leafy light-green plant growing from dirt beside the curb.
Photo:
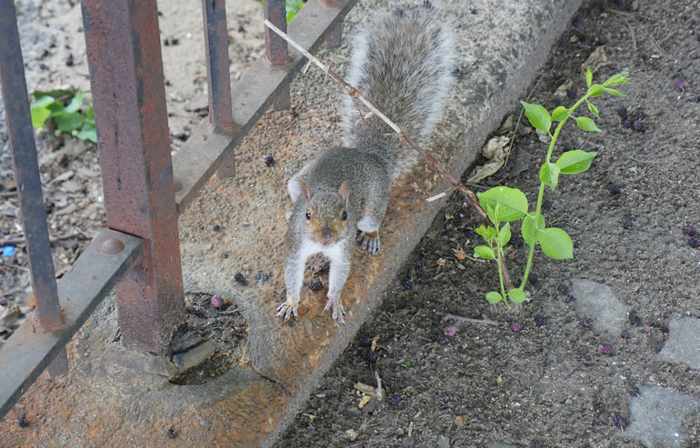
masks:
<svg viewBox="0 0 700 448"><path fill-rule="evenodd" d="M525 284L532 267L535 245L540 244L542 252L555 260L574 258L574 244L566 232L557 227L546 227L545 216L542 215L542 200L545 194L545 186L549 186L555 191L559 182L560 174L583 173L591 166L591 162L597 153L585 152L581 150L567 151L561 154L556 162L552 162L552 154L555 149L556 139L559 136L564 124L569 118L574 118L576 124L587 132L600 132L595 125L593 118L587 116L574 116L578 106L584 103L588 106L588 111L600 118L598 109L589 99L604 93L615 96L626 96L615 90L616 85L626 84L630 78L625 72L612 75L603 85L594 84L593 74L590 69L585 72L585 84L588 87L586 94L570 108L564 106L556 107L552 114L549 114L545 107L541 105L531 105L521 101L525 107L525 116L530 124L535 128L545 131L550 136L549 148L545 157L545 164L540 169L540 188L537 194L537 203L534 212L528 212L527 198L518 189L505 186L497 186L484 193L477 194L479 202L484 207L491 225L481 225L476 229L476 233L484 238L487 244L475 247L475 257L495 260L498 264L498 276L500 280L500 292L492 291L486 294L486 300L492 304L504 302L510 307L509 301L520 304L525 301ZM553 123L557 123L555 132L550 129ZM504 276L502 266L505 263L504 253L508 249L508 242L511 239L511 223L523 219L521 233L525 244L529 246L525 273L519 287L510 291L505 291ZM503 224L503 225L502 225Z"/></svg>

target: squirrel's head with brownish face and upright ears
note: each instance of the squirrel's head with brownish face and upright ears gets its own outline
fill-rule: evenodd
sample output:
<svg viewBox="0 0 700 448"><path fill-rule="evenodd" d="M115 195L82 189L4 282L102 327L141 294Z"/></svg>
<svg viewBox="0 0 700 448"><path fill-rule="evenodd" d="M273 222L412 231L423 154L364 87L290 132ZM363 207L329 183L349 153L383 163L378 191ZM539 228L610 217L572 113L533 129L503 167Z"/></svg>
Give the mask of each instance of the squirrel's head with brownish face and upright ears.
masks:
<svg viewBox="0 0 700 448"><path fill-rule="evenodd" d="M304 224L308 234L317 244L330 247L341 240L347 229L347 198L350 185L345 181L338 193L314 194L309 184L299 181L306 198Z"/></svg>

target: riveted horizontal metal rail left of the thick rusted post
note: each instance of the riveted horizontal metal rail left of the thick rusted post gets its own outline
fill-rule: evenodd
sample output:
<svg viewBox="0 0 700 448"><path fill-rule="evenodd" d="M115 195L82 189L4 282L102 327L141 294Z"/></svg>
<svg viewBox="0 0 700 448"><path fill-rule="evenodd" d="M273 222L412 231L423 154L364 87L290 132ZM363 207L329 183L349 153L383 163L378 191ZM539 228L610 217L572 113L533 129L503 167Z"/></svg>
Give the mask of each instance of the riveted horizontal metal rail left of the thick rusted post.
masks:
<svg viewBox="0 0 700 448"><path fill-rule="evenodd" d="M0 347L0 420L26 389L65 349L115 284L144 250L140 238L114 230L102 230L58 282L58 300L65 326L53 333L35 333L32 318Z"/></svg>

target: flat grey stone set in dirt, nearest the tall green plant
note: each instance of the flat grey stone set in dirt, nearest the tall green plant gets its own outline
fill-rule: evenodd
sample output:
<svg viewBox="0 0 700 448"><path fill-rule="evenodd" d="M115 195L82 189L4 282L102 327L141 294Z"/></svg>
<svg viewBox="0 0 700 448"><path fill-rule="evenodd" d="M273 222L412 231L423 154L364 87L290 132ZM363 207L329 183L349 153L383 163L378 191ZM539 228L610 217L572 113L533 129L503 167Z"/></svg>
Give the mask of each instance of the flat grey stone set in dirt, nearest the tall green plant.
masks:
<svg viewBox="0 0 700 448"><path fill-rule="evenodd" d="M595 333L620 336L630 307L615 297L610 286L575 278L571 281L571 294L576 298L576 313L593 318Z"/></svg>

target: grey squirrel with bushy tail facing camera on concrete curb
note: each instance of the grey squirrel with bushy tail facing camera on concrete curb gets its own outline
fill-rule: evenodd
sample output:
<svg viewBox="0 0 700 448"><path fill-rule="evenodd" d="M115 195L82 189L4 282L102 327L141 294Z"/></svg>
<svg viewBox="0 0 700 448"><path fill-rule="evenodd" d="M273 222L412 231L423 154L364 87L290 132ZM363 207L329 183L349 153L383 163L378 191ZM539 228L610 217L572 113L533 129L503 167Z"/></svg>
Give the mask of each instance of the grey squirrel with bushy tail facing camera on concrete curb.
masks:
<svg viewBox="0 0 700 448"><path fill-rule="evenodd" d="M451 28L439 22L430 2L408 11L397 8L356 36L347 81L422 143L454 81L453 51ZM345 147L318 154L287 184L294 205L285 241L286 300L277 308L285 321L298 317L306 259L321 253L330 260L324 310L332 307L335 322L345 323L339 298L355 241L370 255L379 251L389 187L416 162L413 148L349 96L343 127Z"/></svg>

